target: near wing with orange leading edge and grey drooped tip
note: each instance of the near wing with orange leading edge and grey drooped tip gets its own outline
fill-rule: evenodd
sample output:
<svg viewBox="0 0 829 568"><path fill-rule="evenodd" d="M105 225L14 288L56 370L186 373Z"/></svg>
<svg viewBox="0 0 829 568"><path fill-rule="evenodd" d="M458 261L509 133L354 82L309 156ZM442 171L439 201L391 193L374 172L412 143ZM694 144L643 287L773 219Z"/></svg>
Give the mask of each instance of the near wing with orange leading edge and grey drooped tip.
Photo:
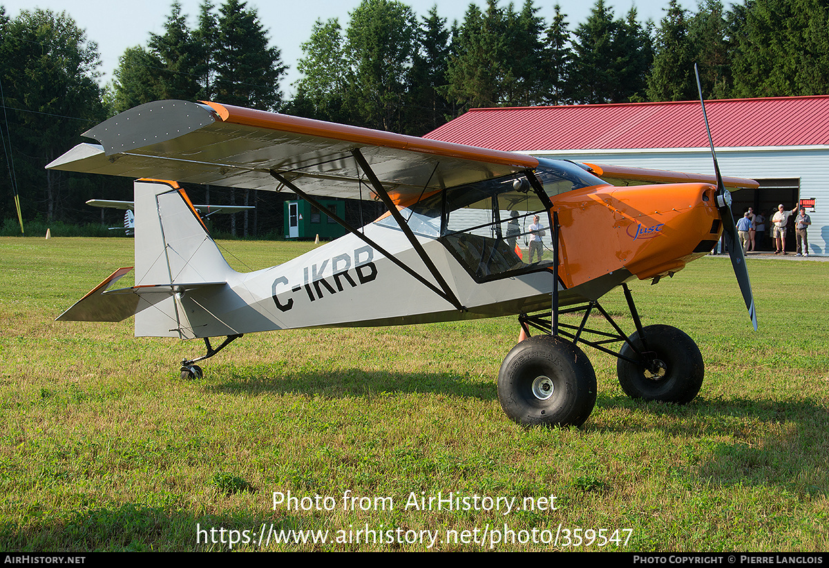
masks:
<svg viewBox="0 0 829 568"><path fill-rule="evenodd" d="M84 133L48 168L377 199L364 159L396 204L444 187L524 171L536 158L217 103L156 101Z"/></svg>

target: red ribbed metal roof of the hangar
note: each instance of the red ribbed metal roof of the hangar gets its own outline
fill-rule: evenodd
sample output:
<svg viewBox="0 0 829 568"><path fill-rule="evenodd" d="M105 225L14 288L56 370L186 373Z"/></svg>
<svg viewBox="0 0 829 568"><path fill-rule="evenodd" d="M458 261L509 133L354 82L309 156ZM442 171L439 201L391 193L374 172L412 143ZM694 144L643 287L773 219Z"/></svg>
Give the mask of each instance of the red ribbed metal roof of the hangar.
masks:
<svg viewBox="0 0 829 568"><path fill-rule="evenodd" d="M829 95L705 101L715 147L829 144ZM473 108L424 136L509 152L708 147L699 101Z"/></svg>

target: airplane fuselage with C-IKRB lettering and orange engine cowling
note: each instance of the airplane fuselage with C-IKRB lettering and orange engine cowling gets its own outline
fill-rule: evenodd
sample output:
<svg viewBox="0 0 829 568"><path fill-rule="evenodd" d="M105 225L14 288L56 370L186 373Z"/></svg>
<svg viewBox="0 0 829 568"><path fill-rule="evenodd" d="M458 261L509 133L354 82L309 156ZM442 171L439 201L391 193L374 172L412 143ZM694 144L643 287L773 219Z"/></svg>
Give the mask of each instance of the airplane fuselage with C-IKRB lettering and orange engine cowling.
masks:
<svg viewBox="0 0 829 568"><path fill-rule="evenodd" d="M713 192L705 184L606 185L555 196L549 213L551 218L555 212L560 224L560 305L597 300L636 277L672 274L710 252L721 231ZM361 230L437 286L395 224L373 223ZM419 235L418 240L463 310L348 234L276 267L229 271L224 287L177 295L182 321L163 335L404 325L550 309L556 285L551 254L545 262L482 280L441 238ZM138 335L158 335L154 327L143 329L137 320Z"/></svg>

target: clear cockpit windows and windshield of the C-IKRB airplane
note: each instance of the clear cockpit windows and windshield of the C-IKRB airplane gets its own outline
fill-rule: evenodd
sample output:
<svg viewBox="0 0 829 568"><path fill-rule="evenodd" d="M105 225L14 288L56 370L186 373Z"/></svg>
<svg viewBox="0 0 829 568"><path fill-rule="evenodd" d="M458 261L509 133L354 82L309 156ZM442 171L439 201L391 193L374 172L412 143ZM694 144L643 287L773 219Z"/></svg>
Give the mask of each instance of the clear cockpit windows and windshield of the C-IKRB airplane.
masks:
<svg viewBox="0 0 829 568"><path fill-rule="evenodd" d="M552 265L550 196L604 183L572 162L540 160L526 174L447 188L400 210L410 229L438 238L478 282ZM395 219L377 222L396 227Z"/></svg>

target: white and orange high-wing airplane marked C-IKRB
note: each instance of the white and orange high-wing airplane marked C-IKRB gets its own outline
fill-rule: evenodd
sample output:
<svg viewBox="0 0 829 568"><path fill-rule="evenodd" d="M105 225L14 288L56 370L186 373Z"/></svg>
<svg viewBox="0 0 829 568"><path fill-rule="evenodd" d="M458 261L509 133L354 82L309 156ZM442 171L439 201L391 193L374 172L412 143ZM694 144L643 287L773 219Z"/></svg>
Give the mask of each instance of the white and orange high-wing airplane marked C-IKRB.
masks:
<svg viewBox="0 0 829 568"><path fill-rule="evenodd" d="M206 354L183 361L182 377L201 376L196 362L257 331L518 315L523 340L497 379L512 420L588 418L596 378L579 344L618 357L631 397L690 402L703 380L700 350L681 330L642 326L627 282L672 276L724 231L756 329L726 189L756 188L754 181L579 165L218 103L144 104L85 137L98 143L48 167L140 178L135 285L109 289L130 270L121 268L58 320L135 315L136 336L204 339ZM241 273L222 258L179 183L286 190L318 209L319 197L379 200L387 211L365 226L328 212L346 236ZM538 239L534 261L524 245ZM618 286L636 326L631 335L599 304ZM594 310L614 333L586 327ZM583 312L581 324L560 323L565 312ZM222 336L214 349L210 339ZM613 343L621 349L608 349Z"/></svg>

